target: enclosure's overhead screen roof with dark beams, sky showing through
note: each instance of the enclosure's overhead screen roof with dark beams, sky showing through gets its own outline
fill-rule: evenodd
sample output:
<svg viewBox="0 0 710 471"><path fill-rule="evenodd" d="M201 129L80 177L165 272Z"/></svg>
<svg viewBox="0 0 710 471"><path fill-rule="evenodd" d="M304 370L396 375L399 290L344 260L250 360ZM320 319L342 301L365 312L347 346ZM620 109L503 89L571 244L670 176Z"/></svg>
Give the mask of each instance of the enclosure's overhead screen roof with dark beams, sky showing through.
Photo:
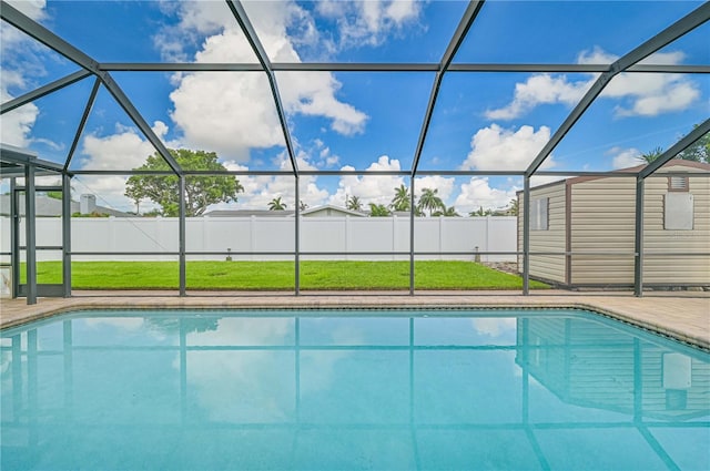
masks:
<svg viewBox="0 0 710 471"><path fill-rule="evenodd" d="M2 140L77 175L199 170L178 147L274 178L584 174L665 149L645 177L710 131L708 2L0 7Z"/></svg>

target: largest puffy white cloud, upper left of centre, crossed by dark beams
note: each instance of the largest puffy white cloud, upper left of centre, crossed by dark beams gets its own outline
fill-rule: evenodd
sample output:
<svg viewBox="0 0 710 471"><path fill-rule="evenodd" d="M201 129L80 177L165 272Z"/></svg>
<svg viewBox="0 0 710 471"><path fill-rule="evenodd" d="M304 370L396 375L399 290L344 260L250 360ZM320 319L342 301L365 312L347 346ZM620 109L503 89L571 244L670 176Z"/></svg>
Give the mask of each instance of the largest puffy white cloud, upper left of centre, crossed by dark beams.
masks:
<svg viewBox="0 0 710 471"><path fill-rule="evenodd" d="M300 62L294 43L298 38L287 29L312 21L307 12L293 2L248 2L245 8L270 59ZM196 62L254 62L254 53L229 11L222 22L216 14L196 14L191 3L179 10L183 27L209 31L194 54ZM311 34L310 28L296 28ZM291 30L290 30L291 31ZM305 31L305 32L304 32ZM190 37L190 35L189 35ZM158 42L168 51L179 51L176 39ZM171 93L171 117L184 133L187 145L217 152L222 157L246 162L248 150L284 145L283 132L266 75L245 73L186 73L175 75ZM281 73L277 76L282 103L287 114L322 116L331 129L344 135L363 132L367 115L339 101L341 84L332 73Z"/></svg>

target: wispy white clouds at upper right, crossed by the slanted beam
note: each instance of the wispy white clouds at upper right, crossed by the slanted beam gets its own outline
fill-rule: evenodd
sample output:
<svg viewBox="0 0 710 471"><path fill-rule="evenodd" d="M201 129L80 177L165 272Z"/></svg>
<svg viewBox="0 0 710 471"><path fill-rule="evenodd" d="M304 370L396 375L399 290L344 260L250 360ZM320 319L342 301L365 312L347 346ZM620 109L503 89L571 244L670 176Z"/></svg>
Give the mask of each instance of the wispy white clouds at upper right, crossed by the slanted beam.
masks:
<svg viewBox="0 0 710 471"><path fill-rule="evenodd" d="M680 51L651 54L640 63L680 64L684 60ZM610 64L619 59L600 48L582 51L577 57L580 64ZM574 80L567 74L534 74L517 83L513 101L506 106L486 111L490 120L514 120L541 104L575 105L597 79L598 74L584 74ZM684 74L620 73L599 95L622 101L615 109L617 116L656 116L682 111L700 98L698 84Z"/></svg>

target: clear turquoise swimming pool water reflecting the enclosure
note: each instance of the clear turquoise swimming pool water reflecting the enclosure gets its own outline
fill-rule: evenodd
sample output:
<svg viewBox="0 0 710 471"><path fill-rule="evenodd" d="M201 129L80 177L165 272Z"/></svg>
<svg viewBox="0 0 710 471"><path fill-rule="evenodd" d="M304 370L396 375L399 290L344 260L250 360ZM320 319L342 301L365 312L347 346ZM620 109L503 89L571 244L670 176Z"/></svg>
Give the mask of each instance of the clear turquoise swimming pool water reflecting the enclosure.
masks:
<svg viewBox="0 0 710 471"><path fill-rule="evenodd" d="M708 470L710 355L580 310L2 331L3 470Z"/></svg>

